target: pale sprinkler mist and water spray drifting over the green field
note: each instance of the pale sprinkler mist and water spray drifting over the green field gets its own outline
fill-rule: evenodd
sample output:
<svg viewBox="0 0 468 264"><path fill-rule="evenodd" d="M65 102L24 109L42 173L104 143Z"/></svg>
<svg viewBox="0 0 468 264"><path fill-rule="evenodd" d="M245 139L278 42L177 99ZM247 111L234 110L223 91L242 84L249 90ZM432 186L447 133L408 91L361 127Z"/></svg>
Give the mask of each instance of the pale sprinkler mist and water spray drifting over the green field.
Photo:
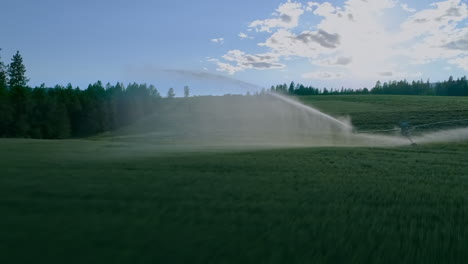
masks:
<svg viewBox="0 0 468 264"><path fill-rule="evenodd" d="M175 98L163 104L156 114L109 135L109 139L133 140L147 146L249 148L396 147L411 144L397 124L389 124L388 128L391 129L386 133L379 129L361 132L353 127L350 116L333 117L296 99L265 93L257 96ZM466 128L415 131L411 136L411 140L421 144L467 138Z"/></svg>

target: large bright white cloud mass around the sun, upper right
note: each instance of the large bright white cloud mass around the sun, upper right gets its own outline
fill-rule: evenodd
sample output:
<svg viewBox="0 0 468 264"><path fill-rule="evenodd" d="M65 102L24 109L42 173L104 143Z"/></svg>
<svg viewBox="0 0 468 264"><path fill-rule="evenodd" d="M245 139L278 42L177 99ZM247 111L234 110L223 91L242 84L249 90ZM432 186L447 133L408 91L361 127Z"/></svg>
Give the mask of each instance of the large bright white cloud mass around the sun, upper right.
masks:
<svg viewBox="0 0 468 264"><path fill-rule="evenodd" d="M407 18L385 20L394 8L406 10ZM298 27L304 12L319 17L307 30ZM347 0L343 6L288 1L272 18L249 25L248 30L270 33L258 43L265 52L232 50L216 63L218 70L233 74L281 68L284 60L306 58L312 65L327 67L303 75L317 79L418 77L421 72L410 70L410 65L440 60L468 70L467 20L464 0L439 1L419 11L397 0Z"/></svg>

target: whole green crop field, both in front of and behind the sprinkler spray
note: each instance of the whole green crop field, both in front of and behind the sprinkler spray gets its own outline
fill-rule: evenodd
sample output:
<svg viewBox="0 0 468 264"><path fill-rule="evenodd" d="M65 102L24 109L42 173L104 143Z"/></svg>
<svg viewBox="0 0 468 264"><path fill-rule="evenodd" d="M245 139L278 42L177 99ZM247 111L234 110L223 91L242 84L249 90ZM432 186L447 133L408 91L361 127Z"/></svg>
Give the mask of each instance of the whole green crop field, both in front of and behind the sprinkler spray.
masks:
<svg viewBox="0 0 468 264"><path fill-rule="evenodd" d="M466 98L302 100L362 129L468 113ZM468 259L468 142L256 149L116 137L144 123L92 139L1 139L0 263Z"/></svg>

